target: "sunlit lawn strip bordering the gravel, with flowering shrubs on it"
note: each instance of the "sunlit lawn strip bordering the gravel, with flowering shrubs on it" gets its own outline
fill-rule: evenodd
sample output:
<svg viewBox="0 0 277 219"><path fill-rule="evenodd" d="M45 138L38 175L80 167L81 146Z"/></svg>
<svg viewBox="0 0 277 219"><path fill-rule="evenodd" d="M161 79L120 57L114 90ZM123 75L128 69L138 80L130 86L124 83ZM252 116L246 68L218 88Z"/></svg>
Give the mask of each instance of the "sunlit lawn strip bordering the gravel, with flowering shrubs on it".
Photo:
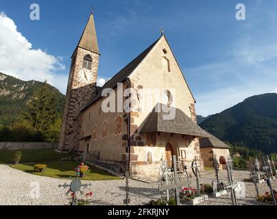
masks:
<svg viewBox="0 0 277 219"><path fill-rule="evenodd" d="M17 164L11 165L12 168L17 170L22 170L27 173L31 173L34 175L45 176L45 177L53 177L58 179L69 179L69 177L75 177L76 173L74 168L80 165L80 162L55 162L55 163L46 163L47 169L45 172L35 172L34 164ZM120 179L119 177L115 177L110 175L109 172L105 170L100 170L99 168L95 168L95 166L88 165L91 172L84 178L84 180L116 180Z"/></svg>

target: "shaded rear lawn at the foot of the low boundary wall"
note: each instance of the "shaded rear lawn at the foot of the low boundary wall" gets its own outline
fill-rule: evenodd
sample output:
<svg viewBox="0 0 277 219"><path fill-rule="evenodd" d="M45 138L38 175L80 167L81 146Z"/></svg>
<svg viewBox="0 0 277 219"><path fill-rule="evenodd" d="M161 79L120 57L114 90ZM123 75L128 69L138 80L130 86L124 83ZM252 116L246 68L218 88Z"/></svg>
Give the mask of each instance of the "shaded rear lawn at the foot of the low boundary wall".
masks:
<svg viewBox="0 0 277 219"><path fill-rule="evenodd" d="M16 150L17 151L17 150ZM12 164L16 151L0 150L0 163ZM59 162L62 157L71 157L72 153L58 153L53 149L19 150L22 152L21 163Z"/></svg>

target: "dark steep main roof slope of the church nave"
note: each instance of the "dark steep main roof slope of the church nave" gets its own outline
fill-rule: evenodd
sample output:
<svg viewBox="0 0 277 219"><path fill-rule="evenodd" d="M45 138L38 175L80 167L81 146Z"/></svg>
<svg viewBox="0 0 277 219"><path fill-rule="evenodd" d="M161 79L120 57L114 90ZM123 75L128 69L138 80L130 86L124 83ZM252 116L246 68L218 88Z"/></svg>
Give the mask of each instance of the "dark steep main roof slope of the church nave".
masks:
<svg viewBox="0 0 277 219"><path fill-rule="evenodd" d="M162 38L162 36L160 38ZM160 40L160 38L158 38L158 40ZM88 103L88 105L86 105L86 107L84 107L82 111L86 110L97 100L101 99L102 90L106 88L116 88L117 83L122 83L123 81L125 81L125 79L128 78L131 75L131 73L136 69L136 67L139 66L139 64L144 60L146 55L152 50L152 48L156 45L158 40L156 40L152 45L145 49L145 51L143 51L138 57L132 60L132 62L130 62L127 66L119 70L119 73L117 73L114 77L107 81L107 83L104 84L104 86L99 90L99 92L97 92L96 96Z"/></svg>

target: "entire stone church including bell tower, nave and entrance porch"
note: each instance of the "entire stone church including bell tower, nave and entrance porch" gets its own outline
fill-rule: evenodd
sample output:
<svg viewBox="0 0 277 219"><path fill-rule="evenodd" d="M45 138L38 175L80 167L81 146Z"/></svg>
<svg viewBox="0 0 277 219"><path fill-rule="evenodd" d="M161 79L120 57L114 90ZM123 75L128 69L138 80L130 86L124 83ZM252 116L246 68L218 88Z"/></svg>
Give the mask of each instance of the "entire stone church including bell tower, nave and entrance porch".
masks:
<svg viewBox="0 0 277 219"><path fill-rule="evenodd" d="M129 169L143 180L158 176L161 161L171 165L172 155L187 166L197 159L203 168L200 139L211 135L197 125L195 99L165 34L103 87L97 86L99 57L91 13L71 57L60 151L80 151L86 162L119 173ZM127 89L132 90L129 96ZM111 96L115 101L107 101ZM128 98L130 110L121 110ZM150 110L141 105L145 99ZM115 110L104 110L111 105ZM166 118L167 112L173 117ZM227 158L228 146L221 145L221 151Z"/></svg>

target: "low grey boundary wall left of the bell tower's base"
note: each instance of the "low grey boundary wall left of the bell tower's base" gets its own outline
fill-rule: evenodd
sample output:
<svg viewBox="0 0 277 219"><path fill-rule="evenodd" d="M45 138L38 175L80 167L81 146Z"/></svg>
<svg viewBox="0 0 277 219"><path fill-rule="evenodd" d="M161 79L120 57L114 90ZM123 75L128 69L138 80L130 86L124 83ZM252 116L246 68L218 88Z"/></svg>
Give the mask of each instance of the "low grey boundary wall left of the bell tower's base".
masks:
<svg viewBox="0 0 277 219"><path fill-rule="evenodd" d="M50 142L0 142L0 150L58 149L58 143Z"/></svg>

